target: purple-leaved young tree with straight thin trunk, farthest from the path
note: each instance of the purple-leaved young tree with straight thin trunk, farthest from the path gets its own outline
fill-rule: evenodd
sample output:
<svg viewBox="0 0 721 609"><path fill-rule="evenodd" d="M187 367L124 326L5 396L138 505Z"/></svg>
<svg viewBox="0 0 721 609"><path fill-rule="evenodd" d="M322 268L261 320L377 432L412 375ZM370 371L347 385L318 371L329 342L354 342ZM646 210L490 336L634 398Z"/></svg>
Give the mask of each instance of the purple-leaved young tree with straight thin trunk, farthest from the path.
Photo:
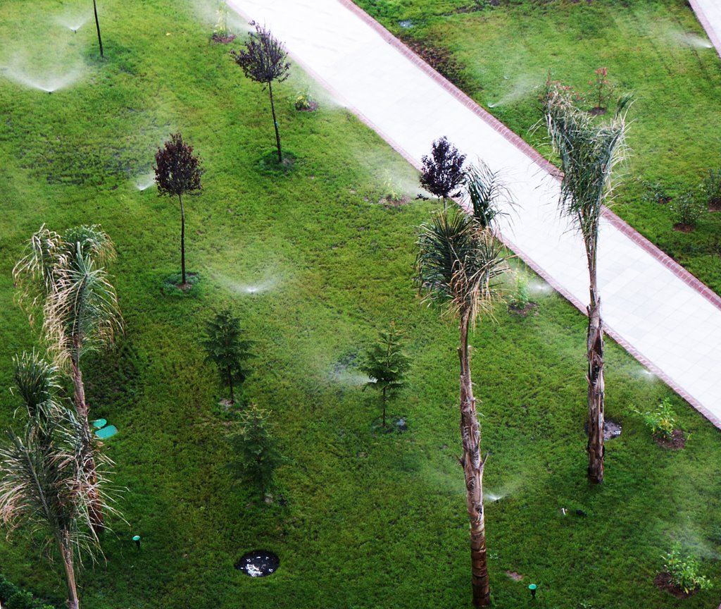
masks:
<svg viewBox="0 0 721 609"><path fill-rule="evenodd" d="M185 281L185 209L182 196L200 190L200 159L193 154L193 146L182 141L180 133L171 133L170 140L155 153L155 183L160 195L177 196L180 203L180 268L181 284Z"/></svg>

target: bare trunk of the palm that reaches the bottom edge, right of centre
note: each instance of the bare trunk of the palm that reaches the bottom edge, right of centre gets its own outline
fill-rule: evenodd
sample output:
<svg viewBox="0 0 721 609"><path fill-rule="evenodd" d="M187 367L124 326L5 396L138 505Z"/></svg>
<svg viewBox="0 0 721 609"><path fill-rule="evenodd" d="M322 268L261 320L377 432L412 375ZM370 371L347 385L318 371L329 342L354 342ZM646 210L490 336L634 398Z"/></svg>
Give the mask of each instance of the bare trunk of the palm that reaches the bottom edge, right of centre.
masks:
<svg viewBox="0 0 721 609"><path fill-rule="evenodd" d="M490 583L483 509L483 466L485 461L481 459L481 430L471 382L468 329L468 315L461 315L461 346L458 350L461 361L461 442L463 444L461 465L463 465L466 479L466 507L470 519L473 605L474 607L487 607L490 605Z"/></svg>

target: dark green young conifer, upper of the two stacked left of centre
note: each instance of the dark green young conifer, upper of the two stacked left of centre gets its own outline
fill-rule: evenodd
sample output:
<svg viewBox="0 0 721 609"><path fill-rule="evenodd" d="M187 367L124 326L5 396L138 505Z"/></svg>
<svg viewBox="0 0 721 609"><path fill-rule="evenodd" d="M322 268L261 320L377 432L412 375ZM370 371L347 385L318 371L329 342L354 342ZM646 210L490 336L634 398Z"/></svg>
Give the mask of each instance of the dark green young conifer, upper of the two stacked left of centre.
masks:
<svg viewBox="0 0 721 609"><path fill-rule="evenodd" d="M215 364L218 368L221 382L230 390L231 402L235 402L234 386L242 385L249 374L244 362L254 357L248 351L252 341L245 340L242 336L240 319L234 317L229 309L217 312L212 319L205 322L205 362Z"/></svg>

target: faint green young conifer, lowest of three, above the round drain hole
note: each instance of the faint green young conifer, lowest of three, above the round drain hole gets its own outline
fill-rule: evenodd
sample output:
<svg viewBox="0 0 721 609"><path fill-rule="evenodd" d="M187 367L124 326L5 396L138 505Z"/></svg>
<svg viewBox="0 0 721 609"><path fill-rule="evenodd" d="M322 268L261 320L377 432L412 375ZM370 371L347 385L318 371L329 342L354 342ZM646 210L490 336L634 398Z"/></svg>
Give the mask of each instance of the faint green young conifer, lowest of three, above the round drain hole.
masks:
<svg viewBox="0 0 721 609"><path fill-rule="evenodd" d="M268 425L268 411L249 404L240 413L238 427L230 434L231 469L265 494L273 484L275 467L283 460Z"/></svg>

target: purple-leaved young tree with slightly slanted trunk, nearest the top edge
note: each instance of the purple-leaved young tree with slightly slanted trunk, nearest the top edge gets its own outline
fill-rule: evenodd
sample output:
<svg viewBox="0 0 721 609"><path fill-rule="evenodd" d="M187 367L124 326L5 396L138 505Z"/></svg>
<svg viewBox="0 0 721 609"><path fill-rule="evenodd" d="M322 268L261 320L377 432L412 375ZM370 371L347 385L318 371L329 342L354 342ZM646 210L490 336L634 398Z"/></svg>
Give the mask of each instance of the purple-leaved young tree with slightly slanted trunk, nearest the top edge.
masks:
<svg viewBox="0 0 721 609"><path fill-rule="evenodd" d="M278 132L278 119L275 118L275 103L273 102L273 81L283 82L288 78L288 69L291 64L283 43L273 38L265 27L256 24L255 33L251 33L240 51L231 51L235 63L242 69L243 74L255 82L260 82L268 88L270 93L270 110L273 113L273 126L275 126L275 144L278 146L278 162L283 162L280 152L280 133Z"/></svg>

